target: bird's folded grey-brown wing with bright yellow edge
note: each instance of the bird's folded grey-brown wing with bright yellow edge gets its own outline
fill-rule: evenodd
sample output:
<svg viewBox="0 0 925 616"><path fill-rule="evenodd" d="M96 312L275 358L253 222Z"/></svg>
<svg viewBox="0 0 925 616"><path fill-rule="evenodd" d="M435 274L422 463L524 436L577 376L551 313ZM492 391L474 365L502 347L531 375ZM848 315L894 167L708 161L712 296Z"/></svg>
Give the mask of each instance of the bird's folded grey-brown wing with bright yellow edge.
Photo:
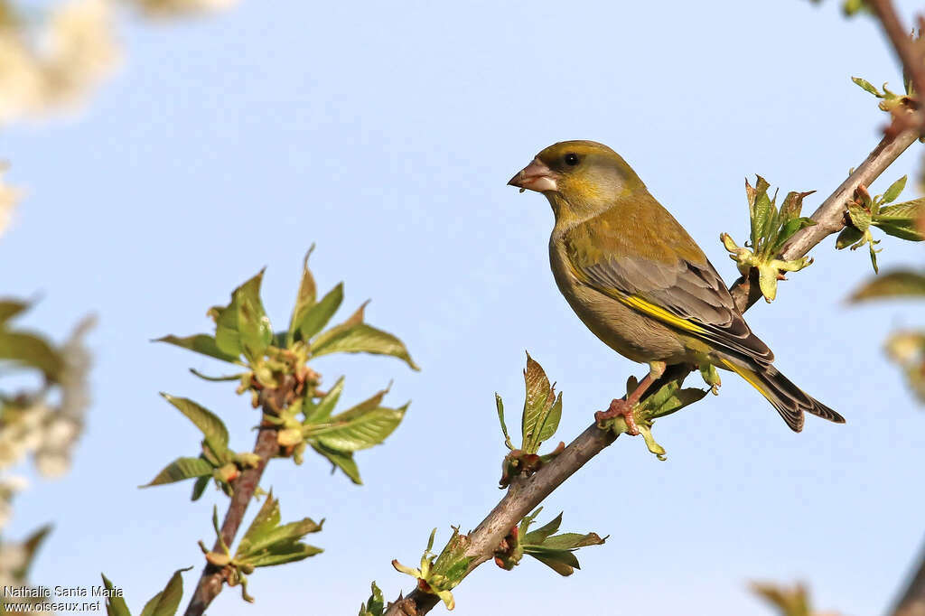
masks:
<svg viewBox="0 0 925 616"><path fill-rule="evenodd" d="M639 228L620 228L612 221L611 224L587 221L586 228L579 230L586 241L572 245L568 240L565 242L573 276L640 313L709 342L712 347L734 355L744 354L759 363L771 363L774 359L771 349L752 333L722 277L684 229L673 218L671 222L677 225L677 229L671 230L683 237L642 231L648 237L636 237L646 246L640 254L623 248L627 230L639 232ZM664 244L666 241L682 241L685 245L689 241L690 245L686 251L677 250L676 245L671 250ZM575 250L574 246L586 242L595 246L595 250ZM621 244L623 250L612 250ZM624 256L628 254L633 256Z"/></svg>

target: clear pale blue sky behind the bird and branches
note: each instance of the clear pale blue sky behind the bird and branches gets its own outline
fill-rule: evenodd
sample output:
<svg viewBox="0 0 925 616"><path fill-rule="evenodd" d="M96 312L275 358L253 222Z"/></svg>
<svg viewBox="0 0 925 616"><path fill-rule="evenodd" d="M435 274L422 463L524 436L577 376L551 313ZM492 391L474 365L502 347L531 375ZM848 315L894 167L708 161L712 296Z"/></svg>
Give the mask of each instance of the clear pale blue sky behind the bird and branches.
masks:
<svg viewBox="0 0 925 616"><path fill-rule="evenodd" d="M16 537L56 524L35 582L98 584L105 571L132 610L179 567L195 565L191 588L195 542L211 542L212 505L226 499L137 489L198 448L157 392L220 413L241 450L255 416L231 386L187 371L221 365L148 340L206 330L205 310L265 265L267 310L286 322L315 242L319 286L345 280L345 311L373 298L369 322L400 335L423 370L315 363L328 383L347 375L346 402L394 379L387 400L413 400L409 413L385 446L358 455L364 487L312 455L271 464L265 487L283 518L326 518L311 537L326 552L254 573L255 605L231 590L212 611L355 613L371 580L388 598L409 589L389 561L415 563L431 528L442 541L450 524L474 527L501 496L493 395L517 416L524 350L564 392L565 440L644 373L561 298L549 205L507 179L551 142L608 143L731 282L718 237L746 239L743 178L816 189L812 211L884 123L849 77L899 89L875 24L845 20L837 4L244 2L127 24L127 61L85 113L0 141L8 179L29 191L0 241L0 292L41 293L26 322L59 339L81 314L100 318L73 471L36 480L8 527ZM900 4L907 16L917 6ZM906 154L874 190L918 162ZM920 263L920 246L882 247L884 269ZM611 535L583 550L582 571L486 565L454 593L455 613L769 613L750 579L806 581L822 608L884 610L923 534L925 413L882 340L921 326L920 308L847 306L867 255L836 253L832 239L813 255L747 317L777 366L848 423L808 418L795 435L724 375L719 398L655 426L667 462L621 438L548 499L564 530Z"/></svg>

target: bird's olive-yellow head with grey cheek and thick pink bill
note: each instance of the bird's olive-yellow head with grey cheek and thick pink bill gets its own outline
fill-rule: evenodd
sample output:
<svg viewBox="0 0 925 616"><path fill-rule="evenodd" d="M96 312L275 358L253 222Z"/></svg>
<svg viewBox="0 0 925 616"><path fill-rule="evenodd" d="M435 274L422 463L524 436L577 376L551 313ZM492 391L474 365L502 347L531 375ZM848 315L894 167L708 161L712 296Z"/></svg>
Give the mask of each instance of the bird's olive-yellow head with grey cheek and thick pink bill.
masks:
<svg viewBox="0 0 925 616"><path fill-rule="evenodd" d="M621 198L646 190L620 154L602 143L586 141L550 145L508 184L542 192L557 220L594 216Z"/></svg>

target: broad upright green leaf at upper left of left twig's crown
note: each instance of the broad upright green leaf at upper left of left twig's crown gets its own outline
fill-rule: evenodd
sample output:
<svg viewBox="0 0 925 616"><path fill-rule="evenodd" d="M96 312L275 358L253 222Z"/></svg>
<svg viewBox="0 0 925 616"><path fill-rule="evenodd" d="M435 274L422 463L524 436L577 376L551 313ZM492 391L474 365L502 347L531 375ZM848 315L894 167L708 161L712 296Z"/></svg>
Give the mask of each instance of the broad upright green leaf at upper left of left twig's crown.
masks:
<svg viewBox="0 0 925 616"><path fill-rule="evenodd" d="M273 328L260 301L260 283L264 271L231 293L231 303L218 311L216 345L222 352L238 355L243 352L251 363L263 357L273 340Z"/></svg>

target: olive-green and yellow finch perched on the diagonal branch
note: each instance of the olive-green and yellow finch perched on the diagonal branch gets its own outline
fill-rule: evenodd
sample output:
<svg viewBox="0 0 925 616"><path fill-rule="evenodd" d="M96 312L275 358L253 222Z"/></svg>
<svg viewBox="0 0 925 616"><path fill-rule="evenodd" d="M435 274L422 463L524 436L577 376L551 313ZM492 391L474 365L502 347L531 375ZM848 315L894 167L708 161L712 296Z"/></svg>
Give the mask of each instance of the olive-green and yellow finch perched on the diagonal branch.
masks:
<svg viewBox="0 0 925 616"><path fill-rule="evenodd" d="M623 415L667 364L711 363L748 381L795 432L803 413L844 423L771 365L774 355L746 324L722 278L635 171L597 142L560 142L510 182L542 192L556 217L549 261L562 295L605 344L649 373L598 419Z"/></svg>

